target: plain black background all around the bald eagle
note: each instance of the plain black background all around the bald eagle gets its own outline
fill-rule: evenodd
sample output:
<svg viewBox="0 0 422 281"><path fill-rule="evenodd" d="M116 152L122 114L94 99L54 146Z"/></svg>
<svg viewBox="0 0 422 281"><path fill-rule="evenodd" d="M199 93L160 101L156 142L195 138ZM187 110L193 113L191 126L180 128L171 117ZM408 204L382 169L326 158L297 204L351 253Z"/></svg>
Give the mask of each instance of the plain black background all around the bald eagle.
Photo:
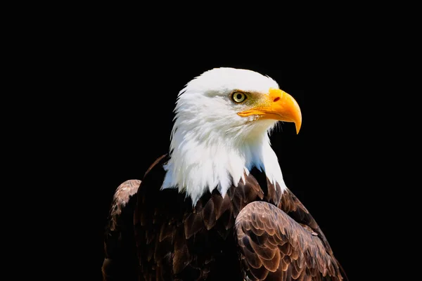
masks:
<svg viewBox="0 0 422 281"><path fill-rule="evenodd" d="M268 74L298 100L299 135L286 123L271 143L288 187L319 223L350 280L409 271L402 270L408 264L397 266L409 257L400 250L397 257L394 247L412 242L406 237L413 228L401 220L412 214L410 190L417 183L405 183L414 170L407 159L396 159L417 156L406 151L411 130L402 125L411 119L409 100L418 89L403 91L407 83L395 72L409 67L394 65L413 61L406 44L404 51L394 44L392 30L403 30L385 29L366 6L366 23L375 25L354 13L359 6L323 15L313 7L307 13L302 3L298 11L264 2L232 10L226 3L156 4L41 6L42 13L29 9L32 18L26 18L19 10L25 20L10 22L13 39L6 45L15 52L5 53L11 62L5 81L12 85L5 97L15 100L3 104L3 140L12 144L4 145L3 156L11 155L6 166L18 168L18 179L29 178L17 183L13 174L12 188L5 185L13 197L4 202L24 197L34 204L7 210L23 211L15 221L25 237L5 225L23 248L12 247L24 266L17 273L101 280L115 188L141 178L167 152L177 93L220 66ZM400 108L405 112L397 113ZM56 253L44 253L50 249ZM388 270L376 265L383 256L394 263Z"/></svg>

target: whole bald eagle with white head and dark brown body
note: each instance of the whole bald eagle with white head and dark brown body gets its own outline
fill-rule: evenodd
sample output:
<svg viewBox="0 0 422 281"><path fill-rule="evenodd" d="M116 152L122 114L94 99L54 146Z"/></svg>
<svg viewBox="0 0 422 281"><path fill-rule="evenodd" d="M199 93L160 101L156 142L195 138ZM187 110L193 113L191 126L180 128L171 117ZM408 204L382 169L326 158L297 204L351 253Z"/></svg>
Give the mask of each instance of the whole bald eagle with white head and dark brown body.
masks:
<svg viewBox="0 0 422 281"><path fill-rule="evenodd" d="M115 192L104 280L347 279L270 145L279 121L300 131L292 96L220 67L189 81L174 112L170 152Z"/></svg>

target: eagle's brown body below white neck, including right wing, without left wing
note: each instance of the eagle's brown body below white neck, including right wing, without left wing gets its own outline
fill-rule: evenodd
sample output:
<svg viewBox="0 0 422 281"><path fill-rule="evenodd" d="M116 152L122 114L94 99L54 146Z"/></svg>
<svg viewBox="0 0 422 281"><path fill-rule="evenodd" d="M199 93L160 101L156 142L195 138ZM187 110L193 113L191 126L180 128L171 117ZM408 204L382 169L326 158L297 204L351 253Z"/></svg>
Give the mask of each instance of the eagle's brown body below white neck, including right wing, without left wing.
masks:
<svg viewBox="0 0 422 281"><path fill-rule="evenodd" d="M160 190L163 155L136 195L134 241L139 280L343 280L309 211L253 169L223 198L195 207L176 189Z"/></svg>

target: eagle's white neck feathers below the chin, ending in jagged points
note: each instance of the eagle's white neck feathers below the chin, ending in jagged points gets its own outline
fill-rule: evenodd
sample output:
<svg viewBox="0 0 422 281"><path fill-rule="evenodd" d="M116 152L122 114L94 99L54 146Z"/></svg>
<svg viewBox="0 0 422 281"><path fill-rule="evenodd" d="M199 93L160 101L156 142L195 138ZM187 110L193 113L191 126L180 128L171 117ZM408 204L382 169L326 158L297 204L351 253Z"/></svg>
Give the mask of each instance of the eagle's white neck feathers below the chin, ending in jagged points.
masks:
<svg viewBox="0 0 422 281"><path fill-rule="evenodd" d="M258 121L261 122L261 121ZM256 126L252 126L255 128ZM251 129L252 129L251 128ZM243 129L244 130L244 129ZM207 141L202 141L207 135ZM218 188L224 197L231 185L245 181L244 173L256 166L281 191L286 189L278 159L265 132L252 133L249 138L234 137L236 131L224 137L218 133L177 128L172 134L170 160L162 188L179 188L193 204L207 191ZM238 141L236 141L238 140Z"/></svg>

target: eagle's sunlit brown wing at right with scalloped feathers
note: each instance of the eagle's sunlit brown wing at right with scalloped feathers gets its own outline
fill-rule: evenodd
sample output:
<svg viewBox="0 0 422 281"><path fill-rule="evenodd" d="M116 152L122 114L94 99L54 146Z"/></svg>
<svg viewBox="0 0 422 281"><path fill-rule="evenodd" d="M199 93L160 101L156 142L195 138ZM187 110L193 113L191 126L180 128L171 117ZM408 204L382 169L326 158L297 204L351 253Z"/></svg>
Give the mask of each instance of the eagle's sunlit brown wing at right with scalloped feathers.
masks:
<svg viewBox="0 0 422 281"><path fill-rule="evenodd" d="M251 202L236 218L246 274L250 280L343 280L340 265L314 219L300 202L289 201L294 195L286 192L281 208Z"/></svg>

